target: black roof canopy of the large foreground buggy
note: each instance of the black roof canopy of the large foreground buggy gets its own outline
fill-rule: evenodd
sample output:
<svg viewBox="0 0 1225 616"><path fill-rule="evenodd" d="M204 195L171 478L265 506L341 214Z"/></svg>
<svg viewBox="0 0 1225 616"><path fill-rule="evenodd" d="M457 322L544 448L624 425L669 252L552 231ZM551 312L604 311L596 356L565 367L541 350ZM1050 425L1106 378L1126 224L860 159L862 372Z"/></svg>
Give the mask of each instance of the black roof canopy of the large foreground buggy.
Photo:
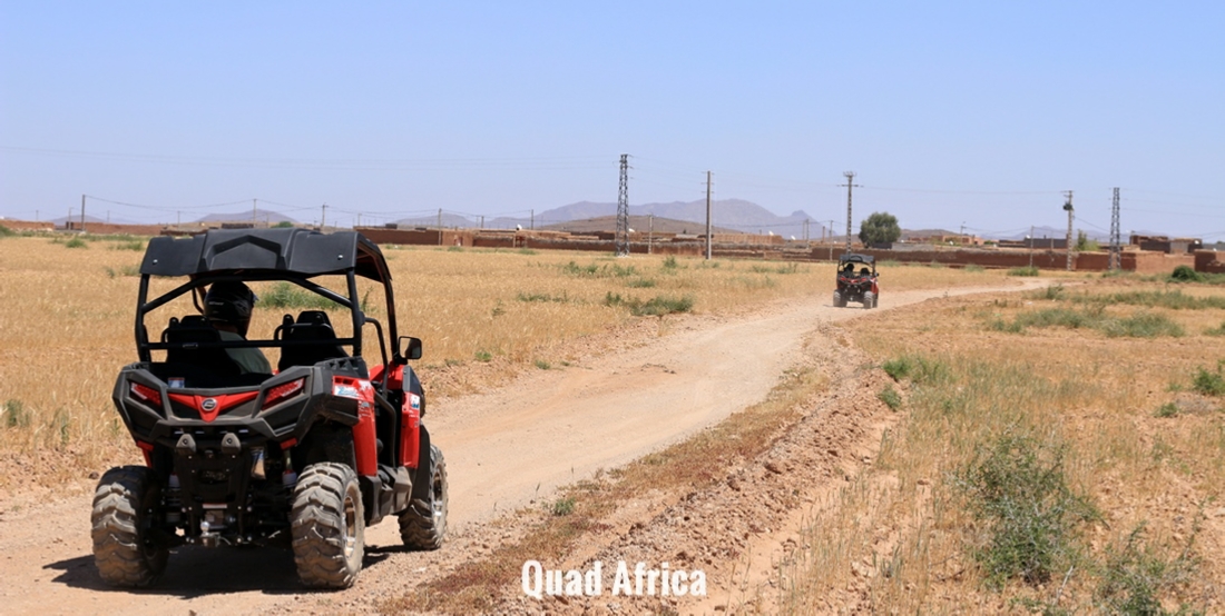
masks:
<svg viewBox="0 0 1225 616"><path fill-rule="evenodd" d="M183 240L154 237L141 263L141 274L154 276L198 276L239 270L305 276L353 270L359 276L380 282L391 280L382 251L355 231L320 233L307 229L233 229L211 230Z"/></svg>

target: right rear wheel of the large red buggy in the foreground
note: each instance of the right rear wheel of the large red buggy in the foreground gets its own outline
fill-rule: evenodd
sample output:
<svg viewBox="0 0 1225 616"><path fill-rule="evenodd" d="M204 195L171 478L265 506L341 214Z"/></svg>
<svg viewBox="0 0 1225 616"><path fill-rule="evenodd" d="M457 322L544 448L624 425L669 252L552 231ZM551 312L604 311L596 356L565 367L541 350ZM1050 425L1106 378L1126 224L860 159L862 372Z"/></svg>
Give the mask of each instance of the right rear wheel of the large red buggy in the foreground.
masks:
<svg viewBox="0 0 1225 616"><path fill-rule="evenodd" d="M303 584L348 588L365 554L366 516L358 475L348 464L307 466L294 488L294 563Z"/></svg>

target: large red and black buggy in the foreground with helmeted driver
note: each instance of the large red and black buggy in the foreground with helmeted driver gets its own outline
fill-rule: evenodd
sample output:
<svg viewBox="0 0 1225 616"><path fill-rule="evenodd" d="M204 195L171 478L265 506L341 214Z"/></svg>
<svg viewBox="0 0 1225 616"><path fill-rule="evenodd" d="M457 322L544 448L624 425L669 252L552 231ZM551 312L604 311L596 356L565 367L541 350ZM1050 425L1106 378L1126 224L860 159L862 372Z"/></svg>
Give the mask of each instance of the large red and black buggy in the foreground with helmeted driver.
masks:
<svg viewBox="0 0 1225 616"><path fill-rule="evenodd" d="M145 464L111 468L94 493L93 555L105 582L148 585L184 544L282 545L304 584L345 588L361 570L365 527L390 516L409 549L442 544L446 466L408 367L421 341L397 332L391 274L374 242L304 229L156 237L140 273L138 361L120 370L114 401ZM306 309L274 330L261 324L250 340L245 325L223 336L205 287L250 293L249 282L300 290L333 312L336 329L326 310ZM368 306L359 284L382 297ZM149 323L168 312L164 329ZM258 347L281 350L278 364L263 362L267 373L230 352Z"/></svg>

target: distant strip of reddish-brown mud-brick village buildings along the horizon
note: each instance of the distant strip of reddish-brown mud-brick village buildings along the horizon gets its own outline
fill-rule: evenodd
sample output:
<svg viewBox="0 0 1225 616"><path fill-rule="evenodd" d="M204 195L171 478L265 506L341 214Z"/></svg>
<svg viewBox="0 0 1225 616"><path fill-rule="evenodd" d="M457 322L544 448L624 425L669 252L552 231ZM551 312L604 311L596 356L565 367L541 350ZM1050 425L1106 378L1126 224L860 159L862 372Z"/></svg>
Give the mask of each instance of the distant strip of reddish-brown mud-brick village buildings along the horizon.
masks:
<svg viewBox="0 0 1225 616"><path fill-rule="evenodd" d="M643 219L643 216L635 216ZM595 221L595 222L592 222ZM589 251L612 253L616 247L615 216L592 219L587 225L576 221L551 227L584 227L583 231L564 229L470 229L390 222L380 226L355 226L356 231L380 244L441 246L470 248ZM657 226L658 221L658 226ZM96 233L131 236L190 236L209 229L268 229L299 226L318 229L292 221L268 222L251 220L202 221L190 224L129 225L102 221L65 220L27 221L0 219L0 226L24 233ZM692 221L653 218L652 229L632 222L627 233L628 252L635 254L671 254L701 257L706 254L707 236L703 225ZM595 227L593 230L593 227ZM600 229L603 227L603 229ZM328 226L331 229L338 229ZM349 229L349 227L345 227ZM670 231L680 229L681 231ZM1076 242L1074 242L1076 243ZM835 260L846 252L846 237L824 236L796 240L774 233L746 233L715 229L710 233L710 254L714 258L766 259L786 262ZM1120 247L1118 269L1136 273L1169 273L1188 265L1200 273L1225 273L1225 263L1216 258L1216 246L1205 248L1198 238L1129 235ZM943 265L951 268L1038 268L1049 270L1106 271L1111 268L1109 246L1095 241L1073 246L1068 258L1065 237L1027 237L1024 240L989 240L975 235L924 232L903 233L898 242L864 246L851 237L853 252L871 254L881 262ZM1071 268L1069 268L1071 264Z"/></svg>

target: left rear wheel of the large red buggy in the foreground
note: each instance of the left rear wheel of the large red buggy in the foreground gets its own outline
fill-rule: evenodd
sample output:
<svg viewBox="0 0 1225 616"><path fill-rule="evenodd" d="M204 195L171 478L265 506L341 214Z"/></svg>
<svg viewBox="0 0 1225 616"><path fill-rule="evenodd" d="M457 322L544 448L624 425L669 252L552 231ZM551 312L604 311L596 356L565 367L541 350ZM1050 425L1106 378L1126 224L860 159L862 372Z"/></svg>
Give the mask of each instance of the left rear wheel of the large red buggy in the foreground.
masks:
<svg viewBox="0 0 1225 616"><path fill-rule="evenodd" d="M107 471L93 493L93 562L109 584L147 587L165 570L169 548L153 537L160 490L147 467Z"/></svg>

